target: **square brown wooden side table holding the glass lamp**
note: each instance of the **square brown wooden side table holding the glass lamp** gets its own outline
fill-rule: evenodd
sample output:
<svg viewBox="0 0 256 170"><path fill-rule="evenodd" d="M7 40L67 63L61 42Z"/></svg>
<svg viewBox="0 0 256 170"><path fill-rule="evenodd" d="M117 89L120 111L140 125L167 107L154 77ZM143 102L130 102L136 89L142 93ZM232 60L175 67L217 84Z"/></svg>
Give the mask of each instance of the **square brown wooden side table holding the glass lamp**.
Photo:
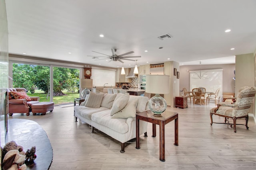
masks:
<svg viewBox="0 0 256 170"><path fill-rule="evenodd" d="M165 161L165 134L164 127L167 123L175 120L174 123L174 145L178 146L178 113L164 111L161 115L154 115L152 111L144 111L136 114L136 149L140 149L140 120L152 123L152 137L156 137L156 125L159 125L160 135L160 160Z"/></svg>

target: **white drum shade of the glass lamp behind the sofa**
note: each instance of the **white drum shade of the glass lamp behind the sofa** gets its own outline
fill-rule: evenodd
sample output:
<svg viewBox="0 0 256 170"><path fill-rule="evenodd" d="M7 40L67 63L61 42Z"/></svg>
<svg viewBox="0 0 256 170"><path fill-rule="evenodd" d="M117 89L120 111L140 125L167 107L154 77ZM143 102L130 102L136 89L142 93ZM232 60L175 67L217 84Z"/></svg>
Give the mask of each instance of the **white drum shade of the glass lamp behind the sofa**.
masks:
<svg viewBox="0 0 256 170"><path fill-rule="evenodd" d="M146 92L153 94L168 94L170 91L170 76L146 75Z"/></svg>

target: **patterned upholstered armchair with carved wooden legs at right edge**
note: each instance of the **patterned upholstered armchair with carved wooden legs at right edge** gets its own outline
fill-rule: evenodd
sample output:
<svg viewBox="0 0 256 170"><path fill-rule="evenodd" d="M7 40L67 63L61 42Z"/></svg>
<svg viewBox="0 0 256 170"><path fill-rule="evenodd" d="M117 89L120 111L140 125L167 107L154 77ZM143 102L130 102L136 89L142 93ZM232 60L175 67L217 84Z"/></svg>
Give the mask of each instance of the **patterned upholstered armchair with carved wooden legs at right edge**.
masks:
<svg viewBox="0 0 256 170"><path fill-rule="evenodd" d="M234 125L234 132L236 132L236 125L244 125L244 124L236 124L236 119L245 118L245 126L246 129L248 127L248 112L252 103L254 102L254 96L256 94L255 87L243 87L239 92L236 102L234 104L228 102L220 102L217 104L218 107L214 107L210 109L210 119L212 123L216 123L212 121L212 115L218 115L221 117L225 117L224 124L229 124L230 127ZM233 123L230 123L227 118L233 119Z"/></svg>

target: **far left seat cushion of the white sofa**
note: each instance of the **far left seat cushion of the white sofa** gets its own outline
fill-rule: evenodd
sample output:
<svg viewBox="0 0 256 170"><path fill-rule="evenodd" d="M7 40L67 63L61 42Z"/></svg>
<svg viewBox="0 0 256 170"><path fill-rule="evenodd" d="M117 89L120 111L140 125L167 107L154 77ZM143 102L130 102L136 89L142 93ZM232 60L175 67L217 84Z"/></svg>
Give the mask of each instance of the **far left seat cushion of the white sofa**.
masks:
<svg viewBox="0 0 256 170"><path fill-rule="evenodd" d="M106 107L94 108L94 107L85 107L85 106L75 106L74 110L76 113L79 113L82 117L86 119L91 119L93 113L108 110Z"/></svg>

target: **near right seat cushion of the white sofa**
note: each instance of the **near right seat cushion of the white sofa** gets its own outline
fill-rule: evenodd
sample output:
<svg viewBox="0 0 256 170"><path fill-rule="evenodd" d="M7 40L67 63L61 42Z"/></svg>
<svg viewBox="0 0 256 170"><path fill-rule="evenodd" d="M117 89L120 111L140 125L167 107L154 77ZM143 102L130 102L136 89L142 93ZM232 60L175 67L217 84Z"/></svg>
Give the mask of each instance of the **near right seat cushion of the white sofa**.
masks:
<svg viewBox="0 0 256 170"><path fill-rule="evenodd" d="M110 109L101 111L95 114L92 114L92 121L106 126L113 131L116 131L118 133L127 133L129 131L129 126L126 123L127 119L111 119L112 116L110 116Z"/></svg>

